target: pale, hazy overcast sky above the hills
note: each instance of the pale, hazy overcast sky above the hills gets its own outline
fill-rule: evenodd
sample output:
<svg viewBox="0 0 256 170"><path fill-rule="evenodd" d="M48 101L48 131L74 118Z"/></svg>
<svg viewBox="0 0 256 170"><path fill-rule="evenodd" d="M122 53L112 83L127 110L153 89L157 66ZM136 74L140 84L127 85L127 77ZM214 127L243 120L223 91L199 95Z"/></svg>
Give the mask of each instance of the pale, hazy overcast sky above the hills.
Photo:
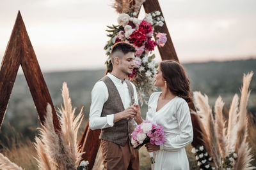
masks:
<svg viewBox="0 0 256 170"><path fill-rule="evenodd" d="M42 71L104 68L106 25L117 24L118 17L111 4L113 0L0 0L0 60L20 10ZM159 4L180 62L256 56L255 0ZM144 16L141 8L139 18Z"/></svg>

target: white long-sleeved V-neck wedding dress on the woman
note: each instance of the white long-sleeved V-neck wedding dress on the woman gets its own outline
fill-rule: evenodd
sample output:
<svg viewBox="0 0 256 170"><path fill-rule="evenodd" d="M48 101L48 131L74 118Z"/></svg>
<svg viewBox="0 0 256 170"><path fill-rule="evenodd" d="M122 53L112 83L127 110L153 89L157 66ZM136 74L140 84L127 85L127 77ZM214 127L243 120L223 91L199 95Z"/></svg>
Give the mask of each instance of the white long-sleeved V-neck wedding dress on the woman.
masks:
<svg viewBox="0 0 256 170"><path fill-rule="evenodd" d="M174 97L156 111L161 92L154 92L148 101L146 120L164 127L166 142L154 152L154 170L189 169L185 146L193 141L193 127L189 107L180 97Z"/></svg>

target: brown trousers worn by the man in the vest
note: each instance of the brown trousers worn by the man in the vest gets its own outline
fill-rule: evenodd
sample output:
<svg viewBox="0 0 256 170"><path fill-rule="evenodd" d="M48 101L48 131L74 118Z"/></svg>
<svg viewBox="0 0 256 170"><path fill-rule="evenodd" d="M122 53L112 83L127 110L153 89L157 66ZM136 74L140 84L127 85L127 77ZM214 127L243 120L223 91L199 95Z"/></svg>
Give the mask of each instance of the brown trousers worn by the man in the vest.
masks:
<svg viewBox="0 0 256 170"><path fill-rule="evenodd" d="M101 139L102 160L105 170L139 170L138 150L134 150L131 142L125 146Z"/></svg>

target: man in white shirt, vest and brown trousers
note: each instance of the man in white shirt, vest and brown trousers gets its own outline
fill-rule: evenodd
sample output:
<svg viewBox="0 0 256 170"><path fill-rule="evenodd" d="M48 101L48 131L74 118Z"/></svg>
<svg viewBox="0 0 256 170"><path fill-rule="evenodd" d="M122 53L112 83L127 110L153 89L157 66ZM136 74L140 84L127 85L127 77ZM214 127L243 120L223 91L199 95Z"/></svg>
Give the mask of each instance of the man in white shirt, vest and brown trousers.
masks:
<svg viewBox="0 0 256 170"><path fill-rule="evenodd" d="M111 51L113 71L92 90L89 126L102 129L100 145L104 169L140 169L138 150L129 136L141 115L135 86L126 79L134 67L134 46L116 43ZM136 123L134 122L136 121Z"/></svg>

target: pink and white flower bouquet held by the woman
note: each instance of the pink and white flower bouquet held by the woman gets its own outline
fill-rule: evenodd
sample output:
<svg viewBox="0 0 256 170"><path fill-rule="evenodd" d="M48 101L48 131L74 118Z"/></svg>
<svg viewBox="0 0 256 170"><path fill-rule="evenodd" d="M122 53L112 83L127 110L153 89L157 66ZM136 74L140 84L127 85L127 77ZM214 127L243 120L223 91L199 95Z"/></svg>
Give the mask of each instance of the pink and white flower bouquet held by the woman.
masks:
<svg viewBox="0 0 256 170"><path fill-rule="evenodd" d="M150 121L143 121L138 125L134 132L132 132L131 143L134 149L139 149L146 143L152 145L162 145L165 141L164 127L161 125L153 124ZM155 163L153 152L149 152L151 164Z"/></svg>

